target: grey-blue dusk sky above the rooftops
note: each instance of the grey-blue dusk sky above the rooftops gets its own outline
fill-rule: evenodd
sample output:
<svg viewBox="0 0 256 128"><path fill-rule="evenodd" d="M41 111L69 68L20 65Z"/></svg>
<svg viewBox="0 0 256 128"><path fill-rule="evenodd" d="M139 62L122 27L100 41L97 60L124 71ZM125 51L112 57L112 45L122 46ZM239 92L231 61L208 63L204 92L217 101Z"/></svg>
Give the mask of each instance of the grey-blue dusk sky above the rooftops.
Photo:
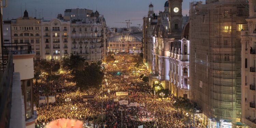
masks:
<svg viewBox="0 0 256 128"><path fill-rule="evenodd" d="M126 24L114 23L125 22L128 19L141 19L132 21L131 26L142 25L142 18L147 15L148 4L154 4L154 11L158 13L164 10L166 0L8 0L8 7L3 9L3 18L12 19L22 16L25 11L25 3L29 16L42 16L44 19L53 19L57 14L64 14L65 9L86 8L99 11L106 19L106 24L109 27L126 27ZM191 0L183 0L182 13L188 15L189 2ZM4 5L4 2L3 2ZM21 6L20 6L21 5ZM52 13L52 16L51 16Z"/></svg>

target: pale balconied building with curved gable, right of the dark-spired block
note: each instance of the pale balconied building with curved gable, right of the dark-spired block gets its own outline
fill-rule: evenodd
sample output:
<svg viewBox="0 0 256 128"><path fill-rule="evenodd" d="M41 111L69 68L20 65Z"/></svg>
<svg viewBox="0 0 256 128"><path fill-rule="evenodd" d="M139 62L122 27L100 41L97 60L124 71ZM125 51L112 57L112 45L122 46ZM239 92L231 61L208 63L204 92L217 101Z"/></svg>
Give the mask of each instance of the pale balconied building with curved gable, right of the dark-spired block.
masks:
<svg viewBox="0 0 256 128"><path fill-rule="evenodd" d="M60 60L71 53L70 21L42 20L42 58Z"/></svg>

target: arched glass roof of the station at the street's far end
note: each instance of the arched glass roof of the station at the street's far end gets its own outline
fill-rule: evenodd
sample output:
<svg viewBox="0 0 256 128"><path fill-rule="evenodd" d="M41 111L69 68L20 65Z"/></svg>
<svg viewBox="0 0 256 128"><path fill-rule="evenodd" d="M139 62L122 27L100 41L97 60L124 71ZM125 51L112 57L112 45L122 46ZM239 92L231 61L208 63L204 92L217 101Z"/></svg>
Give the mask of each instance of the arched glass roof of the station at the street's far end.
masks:
<svg viewBox="0 0 256 128"><path fill-rule="evenodd" d="M142 37L133 33L121 33L109 39L109 42L121 42L122 40L129 42L141 42Z"/></svg>

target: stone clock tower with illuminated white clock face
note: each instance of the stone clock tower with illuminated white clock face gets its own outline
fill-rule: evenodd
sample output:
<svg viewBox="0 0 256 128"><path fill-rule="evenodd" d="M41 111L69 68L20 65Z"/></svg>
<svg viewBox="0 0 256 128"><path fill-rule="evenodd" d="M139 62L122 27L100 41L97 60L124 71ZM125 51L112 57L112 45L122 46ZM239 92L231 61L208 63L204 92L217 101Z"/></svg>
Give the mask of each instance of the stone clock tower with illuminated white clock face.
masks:
<svg viewBox="0 0 256 128"><path fill-rule="evenodd" d="M169 31L182 32L182 1L168 0L169 2Z"/></svg>

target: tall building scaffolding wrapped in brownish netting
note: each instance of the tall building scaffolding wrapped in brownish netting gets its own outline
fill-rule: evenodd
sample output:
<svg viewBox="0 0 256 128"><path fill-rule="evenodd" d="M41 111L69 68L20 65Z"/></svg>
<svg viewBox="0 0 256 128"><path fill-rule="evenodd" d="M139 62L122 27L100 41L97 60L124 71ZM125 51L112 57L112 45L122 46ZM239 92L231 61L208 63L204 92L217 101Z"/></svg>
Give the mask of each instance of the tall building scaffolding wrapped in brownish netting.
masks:
<svg viewBox="0 0 256 128"><path fill-rule="evenodd" d="M208 118L232 127L241 114L240 31L247 16L246 0L190 3L190 97Z"/></svg>

